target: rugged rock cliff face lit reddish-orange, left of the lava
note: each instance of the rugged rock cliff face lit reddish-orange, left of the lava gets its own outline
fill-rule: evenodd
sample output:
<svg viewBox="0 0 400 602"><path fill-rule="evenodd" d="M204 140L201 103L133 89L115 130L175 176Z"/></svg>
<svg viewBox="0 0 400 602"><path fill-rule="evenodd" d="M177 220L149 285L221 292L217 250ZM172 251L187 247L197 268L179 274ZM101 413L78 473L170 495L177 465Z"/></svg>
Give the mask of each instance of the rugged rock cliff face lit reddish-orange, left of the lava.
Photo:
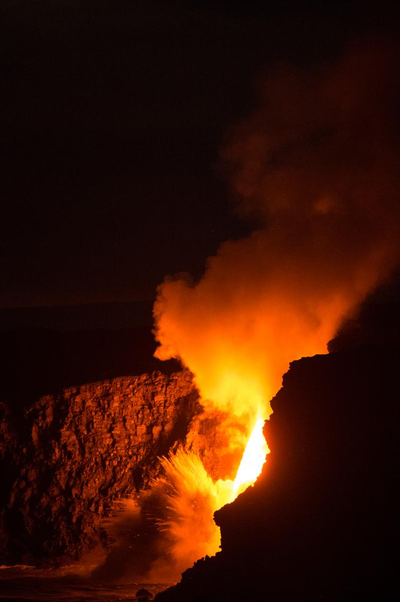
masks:
<svg viewBox="0 0 400 602"><path fill-rule="evenodd" d="M199 411L185 371L70 387L19 411L3 403L1 562L63 560L104 542L113 501L149 483Z"/></svg>

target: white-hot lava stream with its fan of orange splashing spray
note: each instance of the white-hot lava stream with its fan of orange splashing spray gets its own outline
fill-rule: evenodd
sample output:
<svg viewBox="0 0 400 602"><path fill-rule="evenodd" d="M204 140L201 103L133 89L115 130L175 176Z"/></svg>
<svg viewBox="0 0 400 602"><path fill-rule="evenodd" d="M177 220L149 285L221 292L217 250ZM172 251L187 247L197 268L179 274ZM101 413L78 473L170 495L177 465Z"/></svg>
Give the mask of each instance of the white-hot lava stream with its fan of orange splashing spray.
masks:
<svg viewBox="0 0 400 602"><path fill-rule="evenodd" d="M214 482L198 455L182 447L161 459L164 476L153 483L153 493L164 499L167 516L159 521L159 529L165 539L145 581L177 581L196 560L218 552L221 532L213 520L214 512L254 485L261 473L269 453L263 423L263 418L257 419L235 480Z"/></svg>

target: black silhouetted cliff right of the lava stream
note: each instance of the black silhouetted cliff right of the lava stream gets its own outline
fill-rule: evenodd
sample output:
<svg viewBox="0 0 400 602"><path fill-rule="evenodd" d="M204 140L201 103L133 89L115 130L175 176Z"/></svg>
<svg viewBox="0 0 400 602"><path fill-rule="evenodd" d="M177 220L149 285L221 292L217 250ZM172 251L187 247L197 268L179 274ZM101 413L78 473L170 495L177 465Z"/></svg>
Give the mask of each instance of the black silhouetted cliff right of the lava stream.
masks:
<svg viewBox="0 0 400 602"><path fill-rule="evenodd" d="M221 552L164 601L397 597L398 347L292 362L262 475L215 513Z"/></svg>

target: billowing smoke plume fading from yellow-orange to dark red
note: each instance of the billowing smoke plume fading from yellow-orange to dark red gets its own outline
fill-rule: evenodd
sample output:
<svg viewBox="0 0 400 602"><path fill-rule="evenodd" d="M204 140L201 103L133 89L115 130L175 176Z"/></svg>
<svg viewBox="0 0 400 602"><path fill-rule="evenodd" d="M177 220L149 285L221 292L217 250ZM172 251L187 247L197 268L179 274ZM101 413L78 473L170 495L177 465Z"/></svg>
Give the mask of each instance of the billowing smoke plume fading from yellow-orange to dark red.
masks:
<svg viewBox="0 0 400 602"><path fill-rule="evenodd" d="M398 262L394 56L375 42L329 67L271 70L222 151L238 211L257 228L221 244L199 282L158 288L156 356L190 368L206 414L229 415L227 447L244 448L289 362L325 353Z"/></svg>

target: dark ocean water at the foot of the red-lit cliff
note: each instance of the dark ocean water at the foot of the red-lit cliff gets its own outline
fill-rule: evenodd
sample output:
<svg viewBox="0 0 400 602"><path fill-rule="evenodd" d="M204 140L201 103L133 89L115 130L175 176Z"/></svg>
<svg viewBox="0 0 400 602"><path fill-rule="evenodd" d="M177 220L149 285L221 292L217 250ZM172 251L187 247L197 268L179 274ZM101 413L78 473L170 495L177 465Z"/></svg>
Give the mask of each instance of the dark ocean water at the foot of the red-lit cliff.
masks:
<svg viewBox="0 0 400 602"><path fill-rule="evenodd" d="M79 565L63 569L0 566L0 600L19 602L119 602L134 601L146 588L153 595L171 583L108 583L79 574Z"/></svg>

